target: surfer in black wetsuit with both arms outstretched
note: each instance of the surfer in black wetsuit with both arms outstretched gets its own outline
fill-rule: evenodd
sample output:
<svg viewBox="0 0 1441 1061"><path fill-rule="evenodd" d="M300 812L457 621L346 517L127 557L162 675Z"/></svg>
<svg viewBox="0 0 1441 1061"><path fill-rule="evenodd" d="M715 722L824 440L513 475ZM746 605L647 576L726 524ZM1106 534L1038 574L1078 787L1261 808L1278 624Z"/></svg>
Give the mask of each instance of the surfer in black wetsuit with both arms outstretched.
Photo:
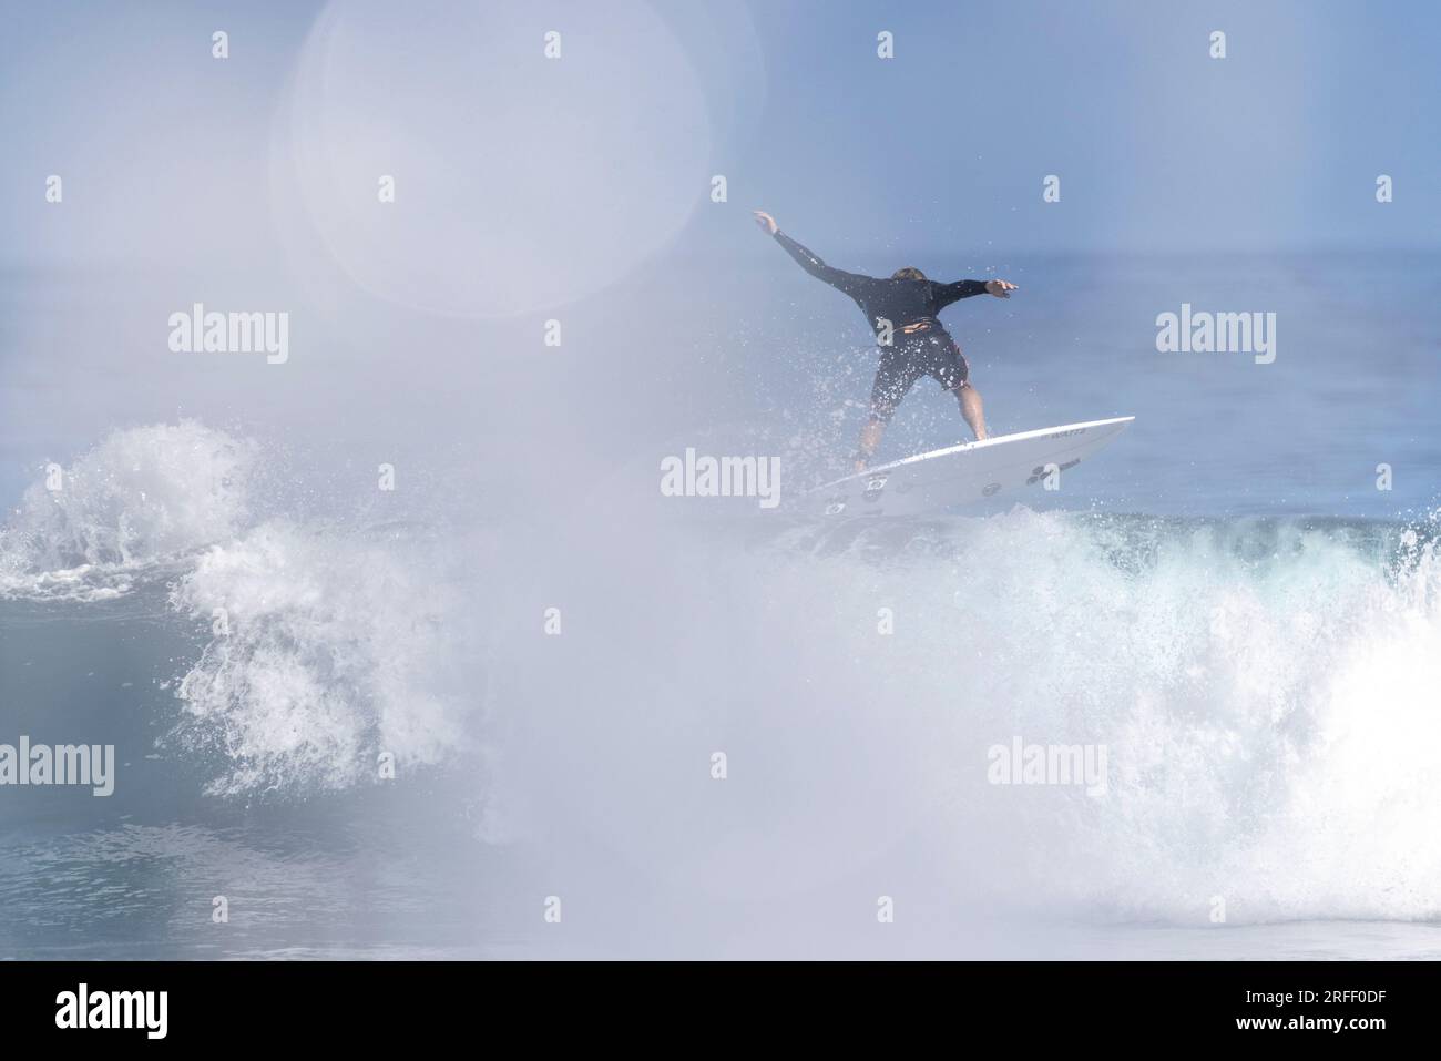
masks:
<svg viewBox="0 0 1441 1061"><path fill-rule="evenodd" d="M944 389L953 391L976 438L986 438L986 412L980 394L971 386L970 366L955 340L941 327L937 314L958 298L970 298L973 294L1010 298L1010 293L1017 290L1014 284L1006 280L938 284L909 265L891 277L863 277L823 262L781 232L775 218L765 210L755 210L755 221L803 270L855 298L876 332L880 366L870 388L870 418L860 430L856 471L866 470L896 407L921 376L934 376Z"/></svg>

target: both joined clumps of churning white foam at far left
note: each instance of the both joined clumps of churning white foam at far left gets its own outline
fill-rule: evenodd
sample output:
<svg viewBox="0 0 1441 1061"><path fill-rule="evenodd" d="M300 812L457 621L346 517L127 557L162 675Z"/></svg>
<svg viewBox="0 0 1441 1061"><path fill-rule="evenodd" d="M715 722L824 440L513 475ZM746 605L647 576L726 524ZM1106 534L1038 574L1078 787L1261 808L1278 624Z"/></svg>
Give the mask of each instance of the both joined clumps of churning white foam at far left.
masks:
<svg viewBox="0 0 1441 1061"><path fill-rule="evenodd" d="M179 613L220 630L223 610L177 683L177 737L222 753L218 793L344 787L382 753L440 763L478 703L464 598L435 584L444 548L403 525L251 526L259 453L196 421L112 432L26 490L0 529L0 597L94 604L174 580Z"/></svg>

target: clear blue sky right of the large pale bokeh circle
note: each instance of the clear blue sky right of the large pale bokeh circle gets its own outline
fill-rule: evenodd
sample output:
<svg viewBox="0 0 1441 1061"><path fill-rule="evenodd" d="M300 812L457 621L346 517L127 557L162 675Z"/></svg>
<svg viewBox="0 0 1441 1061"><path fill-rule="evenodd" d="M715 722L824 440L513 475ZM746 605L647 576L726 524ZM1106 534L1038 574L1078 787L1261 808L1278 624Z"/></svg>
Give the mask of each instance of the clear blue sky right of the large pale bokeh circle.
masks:
<svg viewBox="0 0 1441 1061"><path fill-rule="evenodd" d="M746 172L795 228L1075 251L1441 238L1438 4L765 9ZM878 29L895 33L889 62ZM1226 59L1208 55L1218 29ZM1049 173L1061 203L1040 202Z"/></svg>

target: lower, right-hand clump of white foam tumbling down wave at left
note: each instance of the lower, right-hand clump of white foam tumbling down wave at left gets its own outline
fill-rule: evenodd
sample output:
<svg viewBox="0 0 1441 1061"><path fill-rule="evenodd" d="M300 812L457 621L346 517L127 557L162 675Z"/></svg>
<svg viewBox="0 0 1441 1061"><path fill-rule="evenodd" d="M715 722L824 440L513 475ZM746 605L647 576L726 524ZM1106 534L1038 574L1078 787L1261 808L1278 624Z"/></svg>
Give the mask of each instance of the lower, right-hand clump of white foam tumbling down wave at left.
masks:
<svg viewBox="0 0 1441 1061"><path fill-rule="evenodd" d="M340 789L435 764L478 699L455 678L464 598L434 548L268 522L212 546L173 603L215 634L179 685L190 747L223 750L218 793Z"/></svg>

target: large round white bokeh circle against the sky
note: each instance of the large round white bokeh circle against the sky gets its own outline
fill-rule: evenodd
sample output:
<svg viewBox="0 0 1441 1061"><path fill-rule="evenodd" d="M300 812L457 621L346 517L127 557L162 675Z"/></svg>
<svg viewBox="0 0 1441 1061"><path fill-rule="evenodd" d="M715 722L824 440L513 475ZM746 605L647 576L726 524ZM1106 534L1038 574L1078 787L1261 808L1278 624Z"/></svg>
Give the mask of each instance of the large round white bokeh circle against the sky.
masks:
<svg viewBox="0 0 1441 1061"><path fill-rule="evenodd" d="M709 190L703 86L634 0L331 3L287 104L280 148L326 251L372 294L432 313L604 290Z"/></svg>

